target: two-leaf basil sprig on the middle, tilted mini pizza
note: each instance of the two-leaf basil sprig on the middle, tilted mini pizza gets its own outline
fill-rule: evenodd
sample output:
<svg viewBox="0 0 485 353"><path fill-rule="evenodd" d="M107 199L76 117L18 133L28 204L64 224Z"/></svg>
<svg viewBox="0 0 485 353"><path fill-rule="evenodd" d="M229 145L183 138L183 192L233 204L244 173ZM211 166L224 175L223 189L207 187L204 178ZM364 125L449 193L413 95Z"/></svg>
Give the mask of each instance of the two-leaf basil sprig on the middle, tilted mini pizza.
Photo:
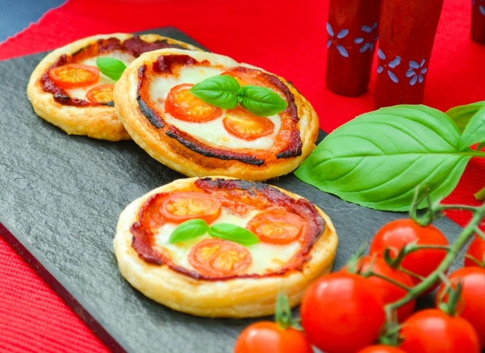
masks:
<svg viewBox="0 0 485 353"><path fill-rule="evenodd" d="M229 75L215 75L195 84L190 92L210 105L222 109L234 109L241 105L256 116L272 116L288 107L288 103L267 87L251 84L240 86Z"/></svg>

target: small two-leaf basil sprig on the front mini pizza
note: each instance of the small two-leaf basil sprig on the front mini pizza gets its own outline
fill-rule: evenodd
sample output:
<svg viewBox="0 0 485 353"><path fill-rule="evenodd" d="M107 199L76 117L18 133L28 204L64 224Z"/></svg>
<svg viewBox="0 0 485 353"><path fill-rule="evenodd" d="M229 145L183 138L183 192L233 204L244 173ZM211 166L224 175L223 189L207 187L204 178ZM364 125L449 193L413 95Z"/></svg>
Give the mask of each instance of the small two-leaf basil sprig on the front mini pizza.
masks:
<svg viewBox="0 0 485 353"><path fill-rule="evenodd" d="M189 219L179 224L173 230L168 242L175 244L186 242L209 233L211 237L230 240L238 244L249 246L259 242L258 237L246 228L229 223L218 223L209 226L204 219Z"/></svg>

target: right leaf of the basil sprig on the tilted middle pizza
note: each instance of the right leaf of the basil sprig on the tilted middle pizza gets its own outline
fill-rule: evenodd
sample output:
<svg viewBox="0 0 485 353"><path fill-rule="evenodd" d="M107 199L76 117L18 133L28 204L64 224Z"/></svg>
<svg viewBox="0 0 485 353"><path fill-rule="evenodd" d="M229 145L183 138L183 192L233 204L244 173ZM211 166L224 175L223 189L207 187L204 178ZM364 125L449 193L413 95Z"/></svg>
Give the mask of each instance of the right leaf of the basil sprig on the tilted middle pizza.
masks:
<svg viewBox="0 0 485 353"><path fill-rule="evenodd" d="M288 103L278 93L267 87L242 87L242 100L240 105L257 116L272 116L288 107Z"/></svg>

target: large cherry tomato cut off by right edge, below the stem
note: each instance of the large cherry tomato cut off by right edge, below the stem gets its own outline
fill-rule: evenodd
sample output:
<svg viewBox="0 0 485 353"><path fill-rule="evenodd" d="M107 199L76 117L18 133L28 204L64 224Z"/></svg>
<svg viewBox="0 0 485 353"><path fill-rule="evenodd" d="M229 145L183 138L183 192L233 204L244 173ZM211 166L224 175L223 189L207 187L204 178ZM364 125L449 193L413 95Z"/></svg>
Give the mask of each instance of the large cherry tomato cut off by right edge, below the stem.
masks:
<svg viewBox="0 0 485 353"><path fill-rule="evenodd" d="M457 314L465 318L477 331L482 348L485 348L485 269L469 266L458 269L448 276L452 287L461 282L461 302ZM442 285L436 295L436 305L445 290ZM443 296L443 302L448 302L448 296Z"/></svg>

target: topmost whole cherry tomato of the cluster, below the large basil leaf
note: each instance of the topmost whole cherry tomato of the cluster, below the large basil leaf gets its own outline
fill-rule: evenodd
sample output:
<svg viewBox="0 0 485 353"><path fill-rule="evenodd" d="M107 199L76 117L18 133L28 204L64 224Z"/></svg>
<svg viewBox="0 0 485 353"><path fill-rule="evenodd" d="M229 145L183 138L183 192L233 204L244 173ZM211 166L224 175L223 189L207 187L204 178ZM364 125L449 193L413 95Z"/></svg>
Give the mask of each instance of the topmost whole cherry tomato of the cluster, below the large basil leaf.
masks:
<svg viewBox="0 0 485 353"><path fill-rule="evenodd" d="M441 231L434 226L421 227L412 219L396 219L385 224L376 235L374 235L369 253L371 255L382 255L386 248L391 250L391 256L398 254L405 244L416 242L418 245L439 245L448 246L448 239ZM406 255L401 263L404 269L427 277L441 264L447 251L441 249L423 248ZM412 277L415 284L421 282ZM425 293L430 293L434 287Z"/></svg>

